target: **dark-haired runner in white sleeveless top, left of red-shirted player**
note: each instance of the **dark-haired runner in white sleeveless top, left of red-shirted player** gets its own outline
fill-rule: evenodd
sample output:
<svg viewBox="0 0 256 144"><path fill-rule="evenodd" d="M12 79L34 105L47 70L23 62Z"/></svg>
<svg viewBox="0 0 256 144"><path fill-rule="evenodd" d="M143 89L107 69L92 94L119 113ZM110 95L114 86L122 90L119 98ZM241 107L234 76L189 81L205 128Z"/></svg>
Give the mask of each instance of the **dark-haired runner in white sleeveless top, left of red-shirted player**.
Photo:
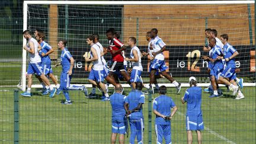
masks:
<svg viewBox="0 0 256 144"><path fill-rule="evenodd" d="M93 85L97 85L98 88L101 88L105 94L105 97L108 99L109 95L105 89L105 85L103 84L103 62L101 61L101 50L100 46L95 44L94 36L87 37L87 44L91 46L91 58L85 57L85 62L93 62L92 70L89 73L89 82Z"/></svg>

